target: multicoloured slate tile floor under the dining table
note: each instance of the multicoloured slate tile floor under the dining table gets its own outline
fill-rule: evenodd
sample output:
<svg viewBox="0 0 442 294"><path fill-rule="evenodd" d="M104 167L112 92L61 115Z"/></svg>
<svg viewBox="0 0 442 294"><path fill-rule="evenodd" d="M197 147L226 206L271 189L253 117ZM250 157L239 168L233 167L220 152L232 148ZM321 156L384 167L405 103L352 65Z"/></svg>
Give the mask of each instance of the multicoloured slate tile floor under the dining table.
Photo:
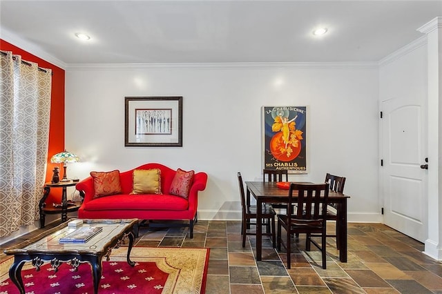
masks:
<svg viewBox="0 0 442 294"><path fill-rule="evenodd" d="M287 270L287 256L277 253L270 239L263 241L262 262L254 258L255 237L248 236L242 248L240 222L200 220L193 239L187 231L142 227L135 246L210 247L207 294L442 293L442 262L421 253L422 243L383 224L349 224L347 263L338 261L335 240L329 238L326 270L314 246L305 252L302 235ZM1 245L1 251L28 237Z"/></svg>

